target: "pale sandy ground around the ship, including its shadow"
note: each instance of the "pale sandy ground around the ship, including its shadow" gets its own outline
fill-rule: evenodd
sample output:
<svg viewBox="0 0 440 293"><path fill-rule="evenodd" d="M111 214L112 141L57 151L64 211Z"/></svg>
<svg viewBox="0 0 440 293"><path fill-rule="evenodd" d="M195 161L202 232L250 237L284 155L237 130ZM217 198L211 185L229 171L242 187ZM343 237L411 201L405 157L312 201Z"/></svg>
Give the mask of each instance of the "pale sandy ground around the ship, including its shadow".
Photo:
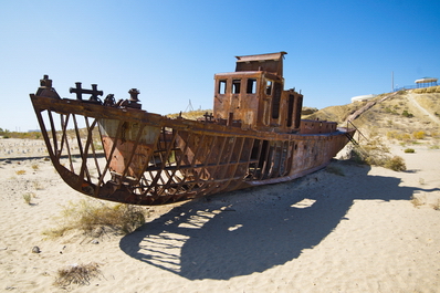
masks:
<svg viewBox="0 0 440 293"><path fill-rule="evenodd" d="M20 144L32 142L0 142L1 292L440 291L439 149L395 146L406 172L334 161L345 176L322 170L149 208L148 222L125 237L48 240L42 231L56 227L62 206L85 196L50 161L6 159L43 155L39 143ZM59 269L91 262L101 275L88 285L53 285Z"/></svg>

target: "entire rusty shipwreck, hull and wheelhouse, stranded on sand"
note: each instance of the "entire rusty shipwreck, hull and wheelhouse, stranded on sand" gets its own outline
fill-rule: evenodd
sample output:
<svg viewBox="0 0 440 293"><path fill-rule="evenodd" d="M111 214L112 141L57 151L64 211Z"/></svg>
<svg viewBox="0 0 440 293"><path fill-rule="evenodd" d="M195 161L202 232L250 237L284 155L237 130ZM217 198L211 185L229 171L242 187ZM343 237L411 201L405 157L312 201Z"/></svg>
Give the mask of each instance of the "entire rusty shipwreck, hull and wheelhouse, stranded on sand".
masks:
<svg viewBox="0 0 440 293"><path fill-rule="evenodd" d="M199 121L143 111L136 88L125 101L101 101L97 85L76 83L76 97L61 98L46 75L30 96L67 185L104 200L165 205L292 180L349 142L354 129L301 119L303 95L284 90L284 54L238 56L235 72L214 75L213 113Z"/></svg>

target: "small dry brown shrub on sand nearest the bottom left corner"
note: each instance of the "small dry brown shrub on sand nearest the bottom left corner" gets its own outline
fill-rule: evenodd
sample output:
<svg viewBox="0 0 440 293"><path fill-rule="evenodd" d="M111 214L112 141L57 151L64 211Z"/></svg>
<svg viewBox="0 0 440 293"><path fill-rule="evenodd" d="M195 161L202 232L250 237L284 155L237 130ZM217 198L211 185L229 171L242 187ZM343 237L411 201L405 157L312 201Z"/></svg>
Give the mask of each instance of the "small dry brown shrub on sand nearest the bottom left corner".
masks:
<svg viewBox="0 0 440 293"><path fill-rule="evenodd" d="M97 263L74 264L67 269L60 269L54 285L65 287L70 284L90 285L93 278L101 274Z"/></svg>

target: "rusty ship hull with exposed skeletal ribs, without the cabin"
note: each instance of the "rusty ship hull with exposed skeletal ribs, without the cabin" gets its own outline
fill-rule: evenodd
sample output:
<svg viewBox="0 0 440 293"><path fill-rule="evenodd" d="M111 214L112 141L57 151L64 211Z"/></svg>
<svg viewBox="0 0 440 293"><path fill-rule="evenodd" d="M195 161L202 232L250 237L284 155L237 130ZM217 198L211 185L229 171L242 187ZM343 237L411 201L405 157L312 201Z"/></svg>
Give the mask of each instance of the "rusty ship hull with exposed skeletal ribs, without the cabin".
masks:
<svg viewBox="0 0 440 293"><path fill-rule="evenodd" d="M63 180L87 196L132 205L292 180L324 168L354 134L262 132L85 101L33 94L31 101Z"/></svg>

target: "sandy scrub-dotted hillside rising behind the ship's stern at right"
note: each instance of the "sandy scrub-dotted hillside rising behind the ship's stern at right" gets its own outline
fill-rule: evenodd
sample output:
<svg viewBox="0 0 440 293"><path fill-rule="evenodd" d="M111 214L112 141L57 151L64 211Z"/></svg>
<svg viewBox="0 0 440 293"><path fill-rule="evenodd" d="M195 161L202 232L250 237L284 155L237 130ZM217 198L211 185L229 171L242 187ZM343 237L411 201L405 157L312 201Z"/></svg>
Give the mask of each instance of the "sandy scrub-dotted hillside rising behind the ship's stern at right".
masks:
<svg viewBox="0 0 440 293"><path fill-rule="evenodd" d="M368 102L326 107L303 118L335 121L342 126L352 119L363 133L388 138L409 138L416 132L439 138L440 86L381 94Z"/></svg>

